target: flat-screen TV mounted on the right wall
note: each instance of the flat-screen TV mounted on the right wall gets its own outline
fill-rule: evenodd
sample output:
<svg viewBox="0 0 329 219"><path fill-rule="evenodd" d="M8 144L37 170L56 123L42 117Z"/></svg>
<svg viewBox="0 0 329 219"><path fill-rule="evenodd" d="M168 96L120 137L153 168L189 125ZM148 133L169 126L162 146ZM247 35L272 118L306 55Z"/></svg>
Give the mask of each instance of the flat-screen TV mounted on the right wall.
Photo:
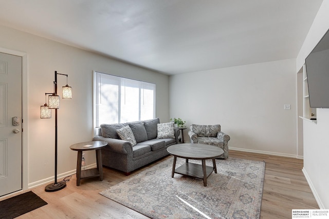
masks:
<svg viewBox="0 0 329 219"><path fill-rule="evenodd" d="M329 108L329 30L305 63L310 107Z"/></svg>

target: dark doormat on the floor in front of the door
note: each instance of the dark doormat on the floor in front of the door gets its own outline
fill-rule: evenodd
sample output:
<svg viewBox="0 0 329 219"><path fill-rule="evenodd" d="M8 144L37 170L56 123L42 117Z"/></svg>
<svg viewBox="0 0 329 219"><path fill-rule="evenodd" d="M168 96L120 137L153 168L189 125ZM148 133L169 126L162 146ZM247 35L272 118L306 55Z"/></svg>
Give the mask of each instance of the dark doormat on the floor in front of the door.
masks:
<svg viewBox="0 0 329 219"><path fill-rule="evenodd" d="M32 191L8 198L0 202L0 218L14 218L47 205Z"/></svg>

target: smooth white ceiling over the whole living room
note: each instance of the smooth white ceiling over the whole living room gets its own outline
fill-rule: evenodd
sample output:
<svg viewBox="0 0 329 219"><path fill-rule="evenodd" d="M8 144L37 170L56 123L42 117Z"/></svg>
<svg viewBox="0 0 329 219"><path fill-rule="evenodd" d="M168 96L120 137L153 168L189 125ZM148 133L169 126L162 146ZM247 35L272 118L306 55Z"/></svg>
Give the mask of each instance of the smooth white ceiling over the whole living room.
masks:
<svg viewBox="0 0 329 219"><path fill-rule="evenodd" d="M296 58L322 0L0 0L0 25L166 74Z"/></svg>

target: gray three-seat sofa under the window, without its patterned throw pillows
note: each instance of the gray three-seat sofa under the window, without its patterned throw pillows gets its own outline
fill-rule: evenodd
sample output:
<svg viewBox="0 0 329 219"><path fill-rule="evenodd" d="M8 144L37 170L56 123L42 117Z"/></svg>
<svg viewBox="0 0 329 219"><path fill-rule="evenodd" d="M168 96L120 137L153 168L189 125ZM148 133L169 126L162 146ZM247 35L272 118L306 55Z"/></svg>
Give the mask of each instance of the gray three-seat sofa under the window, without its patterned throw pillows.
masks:
<svg viewBox="0 0 329 219"><path fill-rule="evenodd" d="M157 138L157 124L160 124L159 118L121 124L102 124L93 141L108 143L102 149L103 165L129 175L131 171L168 155L167 148L178 144L179 130L174 129L173 138ZM121 140L116 131L126 126L129 126L134 134L137 143L134 146L130 141Z"/></svg>

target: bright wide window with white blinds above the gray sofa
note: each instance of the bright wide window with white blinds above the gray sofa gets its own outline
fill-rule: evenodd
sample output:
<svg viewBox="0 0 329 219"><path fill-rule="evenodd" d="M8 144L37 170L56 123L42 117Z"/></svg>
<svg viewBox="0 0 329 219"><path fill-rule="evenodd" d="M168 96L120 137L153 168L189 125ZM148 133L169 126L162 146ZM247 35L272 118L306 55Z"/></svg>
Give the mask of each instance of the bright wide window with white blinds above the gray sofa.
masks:
<svg viewBox="0 0 329 219"><path fill-rule="evenodd" d="M94 126L155 117L155 84L94 72Z"/></svg>

